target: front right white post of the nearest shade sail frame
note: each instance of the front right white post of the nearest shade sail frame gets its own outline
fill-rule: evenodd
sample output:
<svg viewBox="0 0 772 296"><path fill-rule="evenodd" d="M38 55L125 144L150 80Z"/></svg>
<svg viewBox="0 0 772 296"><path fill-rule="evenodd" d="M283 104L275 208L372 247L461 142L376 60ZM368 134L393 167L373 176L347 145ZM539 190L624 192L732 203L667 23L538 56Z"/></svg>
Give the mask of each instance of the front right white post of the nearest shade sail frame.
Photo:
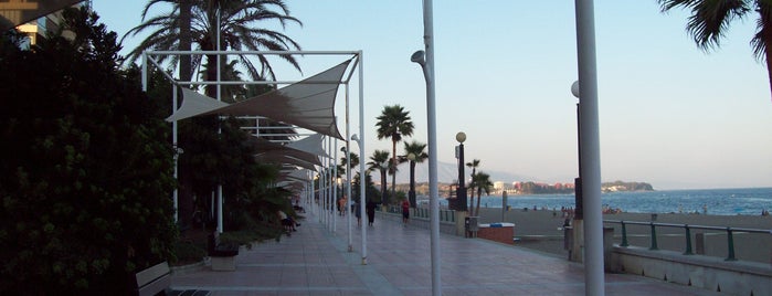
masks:
<svg viewBox="0 0 772 296"><path fill-rule="evenodd" d="M364 177L364 56L362 51L359 51L359 216L362 219L362 265L368 264L368 229L364 226L364 204L367 195L364 188L367 187L367 178Z"/></svg>

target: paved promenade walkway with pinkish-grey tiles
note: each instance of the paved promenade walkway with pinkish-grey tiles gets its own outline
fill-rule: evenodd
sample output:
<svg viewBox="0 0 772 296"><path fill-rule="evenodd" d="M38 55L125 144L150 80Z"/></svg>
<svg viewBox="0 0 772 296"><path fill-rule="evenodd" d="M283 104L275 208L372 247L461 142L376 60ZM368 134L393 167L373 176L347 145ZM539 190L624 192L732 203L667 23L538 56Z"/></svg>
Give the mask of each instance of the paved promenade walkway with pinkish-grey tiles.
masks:
<svg viewBox="0 0 772 296"><path fill-rule="evenodd" d="M427 230L376 220L368 226L368 264L362 265L356 221L355 250L348 252L346 218L336 219L332 233L309 213L290 237L242 249L235 272L212 272L204 266L173 275L171 288L209 290L210 295L432 294ZM584 294L582 265L562 257L446 234L440 235L440 247L443 295ZM713 295L625 274L606 274L605 290L606 295L625 296Z"/></svg>

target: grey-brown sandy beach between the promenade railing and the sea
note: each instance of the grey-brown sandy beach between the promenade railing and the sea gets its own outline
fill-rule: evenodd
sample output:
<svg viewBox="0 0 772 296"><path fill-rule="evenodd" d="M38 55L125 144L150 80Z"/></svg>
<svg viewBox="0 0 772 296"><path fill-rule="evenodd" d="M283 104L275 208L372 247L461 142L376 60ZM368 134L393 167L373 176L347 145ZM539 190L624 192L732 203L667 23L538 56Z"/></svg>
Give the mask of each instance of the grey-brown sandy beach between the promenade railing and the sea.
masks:
<svg viewBox="0 0 772 296"><path fill-rule="evenodd" d="M504 219L503 219L504 218ZM651 222L648 213L616 213L604 214L603 220L622 220ZM559 256L568 256L563 250L562 225L564 218L560 211L512 209L503 213L499 208L480 208L479 223L510 222L515 223L515 237L519 239L517 246L532 249L539 252ZM762 215L707 215L687 213L657 214L656 223L689 224L705 226L730 226L743 229L760 229L772 231L772 216ZM622 240L620 224L604 223L614 228L614 243ZM683 228L656 228L657 246L659 250L683 252L686 249L685 230ZM692 250L697 246L694 236L705 233L705 254L709 256L727 256L727 232L691 230ZM627 225L627 240L631 245L651 246L649 225ZM771 263L772 262L772 232L733 233L734 252L738 260Z"/></svg>

